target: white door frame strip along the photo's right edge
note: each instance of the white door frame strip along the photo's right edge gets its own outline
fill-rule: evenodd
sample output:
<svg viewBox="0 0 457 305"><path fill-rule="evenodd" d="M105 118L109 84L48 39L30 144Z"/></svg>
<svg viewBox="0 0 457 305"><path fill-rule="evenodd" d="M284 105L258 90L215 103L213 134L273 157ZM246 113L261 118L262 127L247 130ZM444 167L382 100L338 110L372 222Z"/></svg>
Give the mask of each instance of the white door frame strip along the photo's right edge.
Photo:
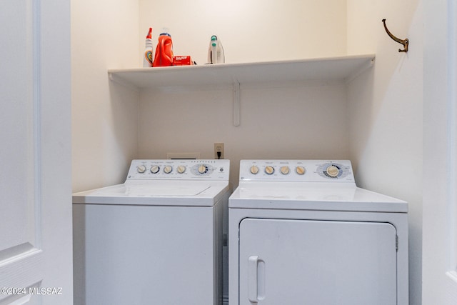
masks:
<svg viewBox="0 0 457 305"><path fill-rule="evenodd" d="M457 1L423 0L423 304L457 304Z"/></svg>

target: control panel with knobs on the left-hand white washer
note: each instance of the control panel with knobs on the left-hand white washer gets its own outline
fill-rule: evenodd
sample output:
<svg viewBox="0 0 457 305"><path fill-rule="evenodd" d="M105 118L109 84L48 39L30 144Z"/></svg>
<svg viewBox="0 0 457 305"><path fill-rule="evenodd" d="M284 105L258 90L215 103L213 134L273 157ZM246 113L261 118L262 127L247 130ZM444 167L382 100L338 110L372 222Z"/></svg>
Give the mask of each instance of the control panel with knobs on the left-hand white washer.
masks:
<svg viewBox="0 0 457 305"><path fill-rule="evenodd" d="M223 160L132 160L127 180L203 179L229 180L230 161Z"/></svg>

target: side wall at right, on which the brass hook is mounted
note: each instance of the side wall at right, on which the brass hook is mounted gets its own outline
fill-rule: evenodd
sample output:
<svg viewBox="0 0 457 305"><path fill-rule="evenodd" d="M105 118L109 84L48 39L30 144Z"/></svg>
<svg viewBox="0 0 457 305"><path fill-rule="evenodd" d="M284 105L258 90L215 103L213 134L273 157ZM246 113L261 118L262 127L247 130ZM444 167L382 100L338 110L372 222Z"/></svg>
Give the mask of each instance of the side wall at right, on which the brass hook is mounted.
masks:
<svg viewBox="0 0 457 305"><path fill-rule="evenodd" d="M374 69L348 86L349 156L358 186L408 201L410 304L421 304L421 1L348 0L348 54L376 54ZM363 12L363 14L361 14ZM388 29L411 43L407 54Z"/></svg>

